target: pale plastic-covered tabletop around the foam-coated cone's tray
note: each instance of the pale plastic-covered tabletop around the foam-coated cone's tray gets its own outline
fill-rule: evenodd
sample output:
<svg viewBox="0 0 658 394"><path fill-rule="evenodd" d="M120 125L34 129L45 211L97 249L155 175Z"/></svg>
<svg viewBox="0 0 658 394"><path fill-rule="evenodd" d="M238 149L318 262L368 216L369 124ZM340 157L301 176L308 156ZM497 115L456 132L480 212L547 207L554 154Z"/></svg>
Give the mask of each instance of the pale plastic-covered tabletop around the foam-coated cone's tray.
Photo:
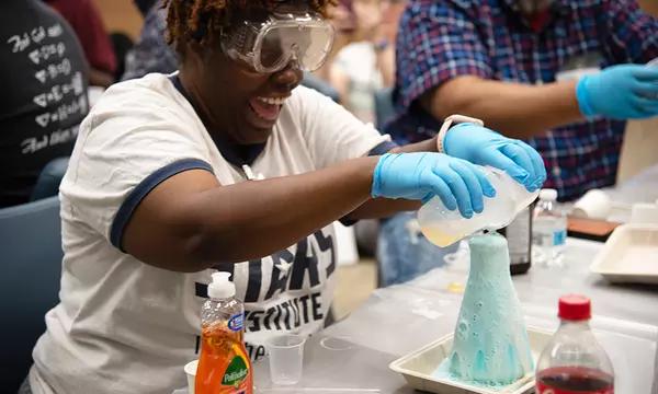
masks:
<svg viewBox="0 0 658 394"><path fill-rule="evenodd" d="M533 266L513 277L526 323L555 329L558 297L591 298L597 337L613 360L617 394L658 394L658 288L619 286L589 271L603 244L567 241L561 268ZM449 283L465 283L467 260L434 269L408 283L377 289L345 320L307 341L304 375L295 386L273 386L268 361L254 364L258 393L413 393L388 364L454 329L461 293Z"/></svg>

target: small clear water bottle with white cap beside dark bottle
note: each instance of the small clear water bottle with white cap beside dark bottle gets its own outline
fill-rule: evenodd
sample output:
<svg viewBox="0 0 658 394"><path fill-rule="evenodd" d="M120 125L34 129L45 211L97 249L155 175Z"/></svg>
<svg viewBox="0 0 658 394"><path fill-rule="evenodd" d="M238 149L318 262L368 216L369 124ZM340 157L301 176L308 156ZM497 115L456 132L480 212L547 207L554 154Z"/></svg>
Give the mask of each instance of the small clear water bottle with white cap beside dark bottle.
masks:
<svg viewBox="0 0 658 394"><path fill-rule="evenodd" d="M561 266L567 240L567 218L556 200L557 190L542 189L534 210L533 259L545 266Z"/></svg>

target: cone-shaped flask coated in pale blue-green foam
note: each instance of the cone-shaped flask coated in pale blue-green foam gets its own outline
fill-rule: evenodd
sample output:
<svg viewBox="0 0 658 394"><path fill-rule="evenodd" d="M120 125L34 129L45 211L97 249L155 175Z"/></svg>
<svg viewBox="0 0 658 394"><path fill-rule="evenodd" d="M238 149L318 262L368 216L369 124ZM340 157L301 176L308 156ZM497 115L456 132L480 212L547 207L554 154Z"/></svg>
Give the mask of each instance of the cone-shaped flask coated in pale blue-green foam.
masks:
<svg viewBox="0 0 658 394"><path fill-rule="evenodd" d="M526 357L523 314L510 278L507 242L496 235L475 236L470 252L469 277L443 374L449 371L454 380L501 387L534 369Z"/></svg>

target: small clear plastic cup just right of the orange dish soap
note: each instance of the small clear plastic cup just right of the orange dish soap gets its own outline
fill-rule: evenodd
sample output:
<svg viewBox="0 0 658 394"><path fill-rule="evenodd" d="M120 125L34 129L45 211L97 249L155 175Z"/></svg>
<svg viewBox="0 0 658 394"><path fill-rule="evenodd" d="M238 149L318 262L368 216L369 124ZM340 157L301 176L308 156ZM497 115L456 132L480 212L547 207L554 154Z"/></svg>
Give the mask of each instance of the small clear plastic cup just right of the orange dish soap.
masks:
<svg viewBox="0 0 658 394"><path fill-rule="evenodd" d="M272 383L290 385L302 380L304 343L306 337L295 334L281 334L268 339Z"/></svg>

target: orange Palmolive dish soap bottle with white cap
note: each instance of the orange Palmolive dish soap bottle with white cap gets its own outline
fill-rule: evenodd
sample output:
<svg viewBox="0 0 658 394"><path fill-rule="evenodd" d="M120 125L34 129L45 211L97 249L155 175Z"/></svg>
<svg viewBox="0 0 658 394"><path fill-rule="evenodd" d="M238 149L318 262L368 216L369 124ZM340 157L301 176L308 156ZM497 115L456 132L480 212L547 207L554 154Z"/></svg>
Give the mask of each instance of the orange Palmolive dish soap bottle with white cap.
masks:
<svg viewBox="0 0 658 394"><path fill-rule="evenodd" d="M245 306L235 298L229 273L213 274L201 310L201 357L196 394L252 394L251 361L245 348Z"/></svg>

